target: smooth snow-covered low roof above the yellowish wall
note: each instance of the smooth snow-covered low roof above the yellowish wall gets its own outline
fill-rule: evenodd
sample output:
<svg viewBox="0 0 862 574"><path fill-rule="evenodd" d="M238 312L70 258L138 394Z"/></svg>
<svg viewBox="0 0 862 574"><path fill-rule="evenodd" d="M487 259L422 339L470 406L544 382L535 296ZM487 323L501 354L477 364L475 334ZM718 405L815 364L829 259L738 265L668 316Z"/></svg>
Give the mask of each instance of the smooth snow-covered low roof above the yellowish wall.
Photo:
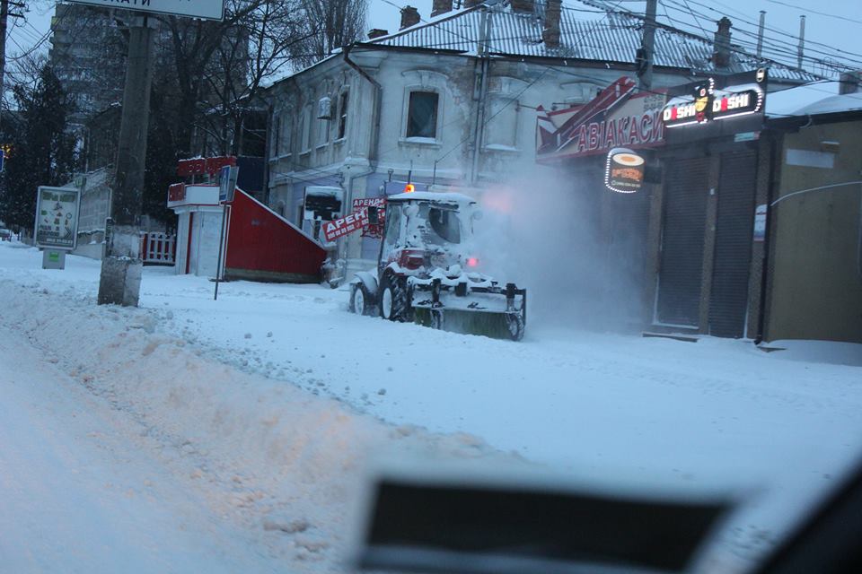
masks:
<svg viewBox="0 0 862 574"><path fill-rule="evenodd" d="M813 82L770 93L767 117L814 116L862 110L862 92L839 94L840 82Z"/></svg>

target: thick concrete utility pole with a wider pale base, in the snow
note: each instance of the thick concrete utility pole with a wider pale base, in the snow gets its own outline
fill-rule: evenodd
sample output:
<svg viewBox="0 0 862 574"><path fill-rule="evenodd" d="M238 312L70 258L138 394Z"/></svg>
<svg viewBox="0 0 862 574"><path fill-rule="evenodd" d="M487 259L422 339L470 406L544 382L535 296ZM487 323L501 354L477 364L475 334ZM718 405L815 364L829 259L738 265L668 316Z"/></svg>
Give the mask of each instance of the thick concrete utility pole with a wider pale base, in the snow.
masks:
<svg viewBox="0 0 862 574"><path fill-rule="evenodd" d="M119 150L111 192L113 230L101 261L100 305L136 307L141 290L140 219L144 194L146 133L153 78L156 20L135 14L129 25L126 85Z"/></svg>

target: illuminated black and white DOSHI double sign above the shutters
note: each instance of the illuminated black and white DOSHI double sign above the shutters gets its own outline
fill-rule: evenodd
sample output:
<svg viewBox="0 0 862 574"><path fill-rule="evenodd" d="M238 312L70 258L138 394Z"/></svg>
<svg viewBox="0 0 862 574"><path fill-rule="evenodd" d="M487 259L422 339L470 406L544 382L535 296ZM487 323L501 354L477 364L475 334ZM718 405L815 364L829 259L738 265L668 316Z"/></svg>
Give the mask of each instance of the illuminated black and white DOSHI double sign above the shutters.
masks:
<svg viewBox="0 0 862 574"><path fill-rule="evenodd" d="M682 91L688 93L672 97L662 109L664 126L670 128L708 124L730 117L762 113L766 94L766 70L736 74L722 80L727 83L743 79L739 76L745 76L744 79L750 79L752 82L728 83L723 88L717 88L717 79L708 78L701 83L683 86Z"/></svg>

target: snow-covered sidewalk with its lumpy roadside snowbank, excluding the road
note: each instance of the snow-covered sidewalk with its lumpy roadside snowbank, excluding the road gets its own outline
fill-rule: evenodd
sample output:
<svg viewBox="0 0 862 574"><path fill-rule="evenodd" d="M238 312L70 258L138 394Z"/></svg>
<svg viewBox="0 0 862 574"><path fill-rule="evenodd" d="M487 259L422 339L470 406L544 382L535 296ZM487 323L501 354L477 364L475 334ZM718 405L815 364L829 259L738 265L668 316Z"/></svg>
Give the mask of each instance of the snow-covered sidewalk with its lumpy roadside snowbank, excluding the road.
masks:
<svg viewBox="0 0 862 574"><path fill-rule="evenodd" d="M38 251L5 244L0 323L143 424L261 552L310 571L338 568L373 448L741 488L737 553L768 545L862 453L858 347L842 349L849 364L795 361L811 357L541 316L513 344L356 317L346 292L317 285L224 283L214 301L213 283L165 268L145 269L141 309L116 309L95 305L98 274L81 257L43 271Z"/></svg>

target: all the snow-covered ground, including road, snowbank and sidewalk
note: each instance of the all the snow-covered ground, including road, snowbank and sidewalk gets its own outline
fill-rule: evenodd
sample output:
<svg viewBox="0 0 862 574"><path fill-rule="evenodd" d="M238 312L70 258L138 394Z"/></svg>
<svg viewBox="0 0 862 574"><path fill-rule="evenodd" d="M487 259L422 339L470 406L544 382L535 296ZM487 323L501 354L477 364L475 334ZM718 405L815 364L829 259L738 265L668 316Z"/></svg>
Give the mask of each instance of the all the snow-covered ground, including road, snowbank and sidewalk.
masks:
<svg viewBox="0 0 862 574"><path fill-rule="evenodd" d="M513 344L356 317L316 285L223 283L214 301L165 268L145 269L141 309L116 309L94 303L98 262L40 262L0 247L0 560L19 571L58 549L80 558L63 571L342 571L345 508L379 448L742 490L715 570L732 571L862 454L853 345L535 319Z"/></svg>

